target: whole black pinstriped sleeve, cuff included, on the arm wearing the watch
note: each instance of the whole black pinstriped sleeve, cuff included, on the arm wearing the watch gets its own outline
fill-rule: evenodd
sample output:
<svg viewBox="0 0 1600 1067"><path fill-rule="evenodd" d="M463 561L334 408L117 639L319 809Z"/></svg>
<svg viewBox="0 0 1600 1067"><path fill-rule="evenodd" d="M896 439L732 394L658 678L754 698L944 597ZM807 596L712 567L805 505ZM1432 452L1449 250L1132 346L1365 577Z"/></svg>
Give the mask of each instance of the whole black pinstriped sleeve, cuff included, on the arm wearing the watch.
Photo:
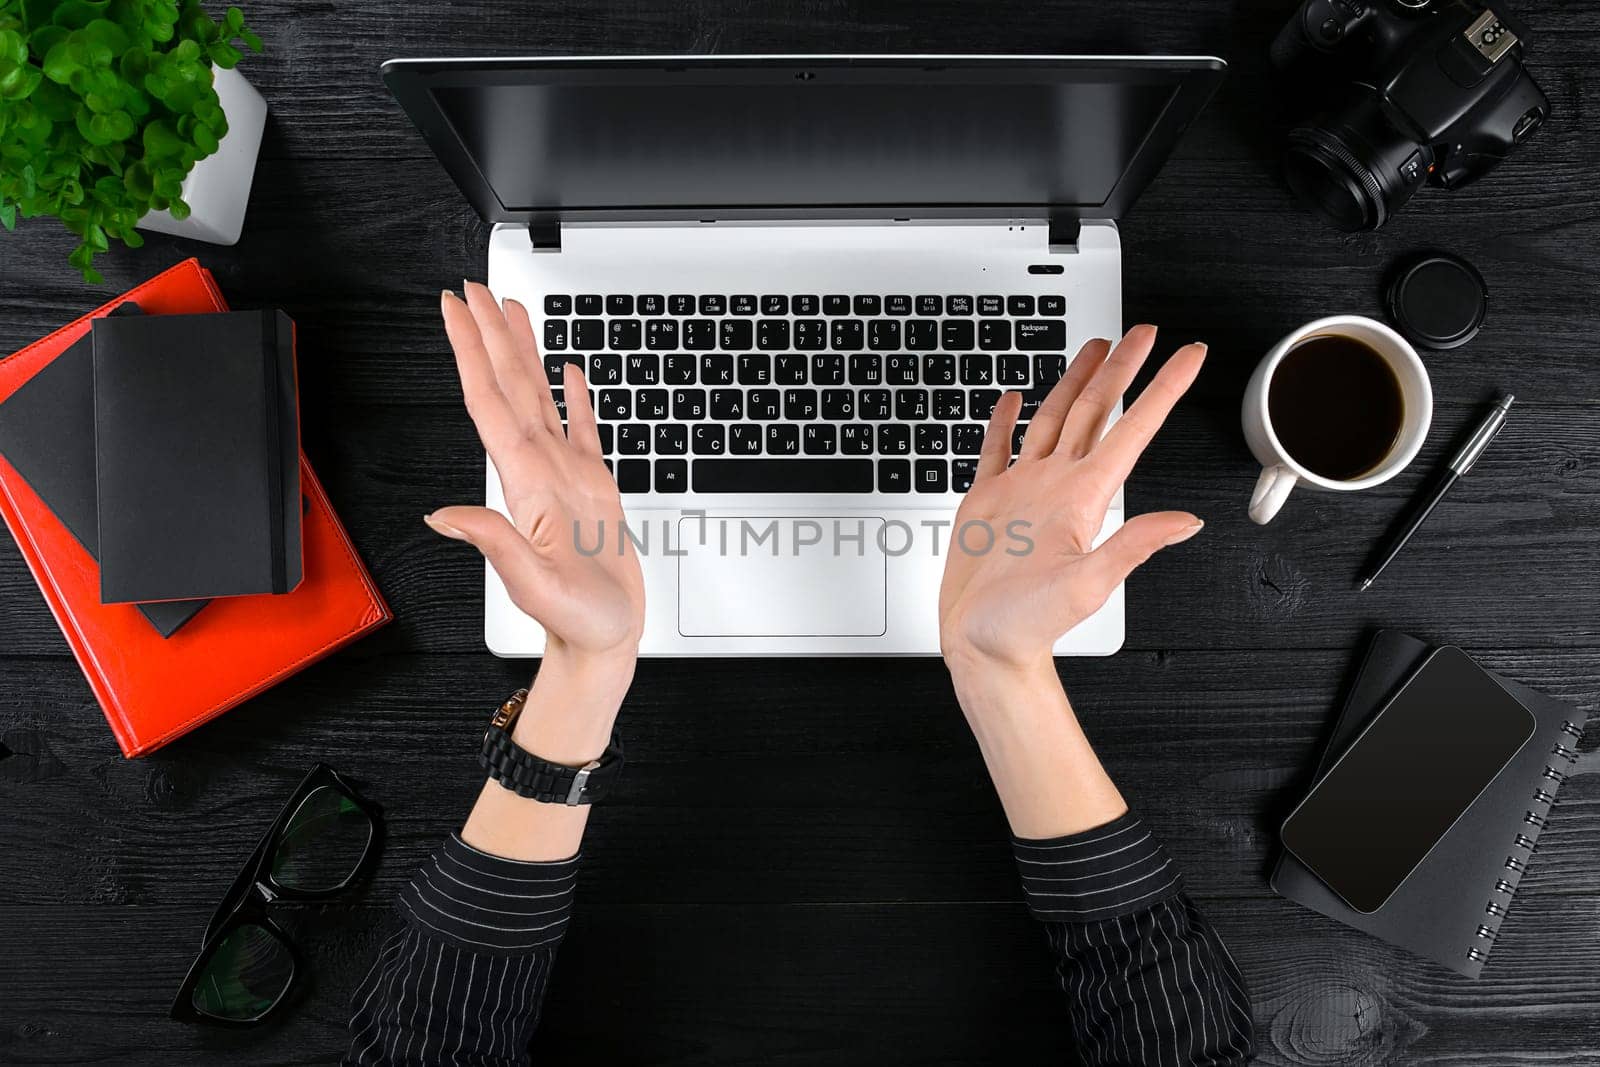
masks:
<svg viewBox="0 0 1600 1067"><path fill-rule="evenodd" d="M400 893L344 1062L525 1064L576 877L576 856L520 862L451 835Z"/></svg>

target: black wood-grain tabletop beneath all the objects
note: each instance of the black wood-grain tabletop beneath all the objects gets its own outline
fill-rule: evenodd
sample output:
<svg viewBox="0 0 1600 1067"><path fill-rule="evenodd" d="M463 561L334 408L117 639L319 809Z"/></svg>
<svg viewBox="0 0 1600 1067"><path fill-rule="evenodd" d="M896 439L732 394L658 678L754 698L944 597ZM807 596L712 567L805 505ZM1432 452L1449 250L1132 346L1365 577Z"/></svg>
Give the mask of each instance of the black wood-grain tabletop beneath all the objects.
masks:
<svg viewBox="0 0 1600 1067"><path fill-rule="evenodd" d="M530 53L1216 53L1232 74L1123 227L1126 315L1211 360L1128 486L1203 536L1144 568L1128 645L1061 661L1080 715L1165 837L1256 997L1262 1062L1600 1062L1600 755L1579 745L1482 981L1266 885L1363 635L1398 625L1594 707L1600 681L1600 6L1523 0L1555 118L1478 187L1424 192L1342 237L1277 178L1291 114L1266 48L1286 0L1178 3L256 0L270 106L245 237L152 237L67 269L34 222L0 237L0 350L189 254L235 306L299 323L306 450L397 621L222 720L128 761L14 547L0 545L0 1061L320 1062L389 902L482 781L486 709L528 664L482 643L480 563L422 526L482 494L437 315L482 277L486 227L378 78L390 56ZM1445 246L1493 290L1482 336L1427 357L1434 432L1405 475L1245 518L1238 400L1261 354L1331 312L1378 314L1395 256ZM1496 390L1506 434L1371 592L1365 552ZM579 913L534 1051L587 1064L1062 1062L1066 1003L1018 904L1006 830L938 661L645 662L627 789L595 817ZM371 782L371 888L288 909L309 1000L250 1033L166 1019L211 907L315 760ZM1405 782L1395 782L1403 801Z"/></svg>

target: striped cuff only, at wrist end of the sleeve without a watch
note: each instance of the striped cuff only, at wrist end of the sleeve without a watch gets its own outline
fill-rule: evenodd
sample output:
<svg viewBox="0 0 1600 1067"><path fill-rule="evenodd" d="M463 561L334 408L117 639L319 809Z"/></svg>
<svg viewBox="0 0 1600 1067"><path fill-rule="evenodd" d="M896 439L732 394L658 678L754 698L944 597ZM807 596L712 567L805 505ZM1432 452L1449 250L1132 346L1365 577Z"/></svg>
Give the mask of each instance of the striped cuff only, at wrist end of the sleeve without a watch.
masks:
<svg viewBox="0 0 1600 1067"><path fill-rule="evenodd" d="M1182 877L1131 811L1048 841L1011 838L1034 918L1094 923L1142 912L1182 893Z"/></svg>

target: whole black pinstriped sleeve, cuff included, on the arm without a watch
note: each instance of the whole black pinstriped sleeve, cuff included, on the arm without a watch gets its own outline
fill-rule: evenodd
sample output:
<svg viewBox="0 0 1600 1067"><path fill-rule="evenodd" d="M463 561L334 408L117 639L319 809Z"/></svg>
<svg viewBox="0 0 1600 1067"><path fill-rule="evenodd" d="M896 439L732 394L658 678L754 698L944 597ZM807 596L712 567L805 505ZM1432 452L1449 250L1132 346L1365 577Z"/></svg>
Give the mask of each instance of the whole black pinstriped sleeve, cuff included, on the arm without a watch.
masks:
<svg viewBox="0 0 1600 1067"><path fill-rule="evenodd" d="M1013 848L1085 1064L1210 1067L1254 1056L1243 976L1136 816Z"/></svg>

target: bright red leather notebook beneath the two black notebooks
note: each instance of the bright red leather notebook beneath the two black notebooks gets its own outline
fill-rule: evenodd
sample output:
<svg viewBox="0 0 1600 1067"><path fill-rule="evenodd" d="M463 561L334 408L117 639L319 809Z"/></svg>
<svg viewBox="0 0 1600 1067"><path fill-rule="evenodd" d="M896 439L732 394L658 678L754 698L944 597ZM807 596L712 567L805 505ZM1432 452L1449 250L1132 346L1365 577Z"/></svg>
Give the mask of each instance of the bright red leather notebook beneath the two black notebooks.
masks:
<svg viewBox="0 0 1600 1067"><path fill-rule="evenodd" d="M90 330L134 301L147 315L227 310L211 274L187 259L125 296L0 360L0 402ZM355 555L301 453L304 571L294 592L229 597L163 638L133 605L102 605L99 568L0 458L0 517L16 537L123 755L152 752L368 633L389 606Z"/></svg>

